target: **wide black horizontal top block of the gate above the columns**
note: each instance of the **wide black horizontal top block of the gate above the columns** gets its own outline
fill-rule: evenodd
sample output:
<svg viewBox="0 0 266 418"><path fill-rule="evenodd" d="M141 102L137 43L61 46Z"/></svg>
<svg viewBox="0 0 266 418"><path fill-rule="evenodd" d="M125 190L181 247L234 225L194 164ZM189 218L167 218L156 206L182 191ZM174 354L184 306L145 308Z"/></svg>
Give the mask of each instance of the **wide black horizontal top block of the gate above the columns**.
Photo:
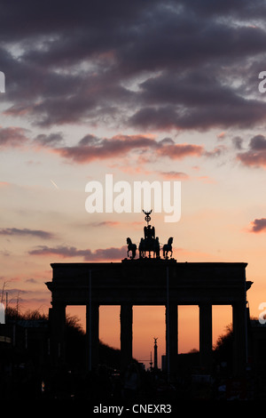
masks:
<svg viewBox="0 0 266 418"><path fill-rule="evenodd" d="M246 262L52 263L52 303L84 305L233 304L246 300Z"/></svg>

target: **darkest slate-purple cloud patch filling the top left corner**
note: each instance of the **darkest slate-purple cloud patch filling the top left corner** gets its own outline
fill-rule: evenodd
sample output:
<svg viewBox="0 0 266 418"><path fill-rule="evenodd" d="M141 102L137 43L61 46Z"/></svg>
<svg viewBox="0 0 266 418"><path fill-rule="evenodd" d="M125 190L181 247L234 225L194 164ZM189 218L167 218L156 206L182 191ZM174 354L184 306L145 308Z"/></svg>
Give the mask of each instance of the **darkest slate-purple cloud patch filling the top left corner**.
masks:
<svg viewBox="0 0 266 418"><path fill-rule="evenodd" d="M2 8L0 35L5 42L11 42L47 35L53 35L54 39L51 36L51 40L57 41L59 30L67 35L69 32L78 32L79 28L81 31L88 28L92 34L95 29L110 29L121 21L127 26L158 3L157 0L146 0L145 4L142 0L129 4L122 0L113 3L106 0L80 0L77 7L74 1L58 0L54 4L48 0L36 4L34 0L25 0L21 4L11 0L5 2Z"/></svg>

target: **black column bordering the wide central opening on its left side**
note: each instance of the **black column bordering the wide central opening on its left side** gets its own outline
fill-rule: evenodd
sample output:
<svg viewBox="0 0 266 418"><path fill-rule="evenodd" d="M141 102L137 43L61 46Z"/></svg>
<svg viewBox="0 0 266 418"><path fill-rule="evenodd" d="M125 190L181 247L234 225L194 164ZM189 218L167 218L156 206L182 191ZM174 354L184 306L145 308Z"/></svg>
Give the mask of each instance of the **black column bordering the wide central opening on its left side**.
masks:
<svg viewBox="0 0 266 418"><path fill-rule="evenodd" d="M132 304L121 304L120 325L121 325L121 371L124 371L132 361Z"/></svg>

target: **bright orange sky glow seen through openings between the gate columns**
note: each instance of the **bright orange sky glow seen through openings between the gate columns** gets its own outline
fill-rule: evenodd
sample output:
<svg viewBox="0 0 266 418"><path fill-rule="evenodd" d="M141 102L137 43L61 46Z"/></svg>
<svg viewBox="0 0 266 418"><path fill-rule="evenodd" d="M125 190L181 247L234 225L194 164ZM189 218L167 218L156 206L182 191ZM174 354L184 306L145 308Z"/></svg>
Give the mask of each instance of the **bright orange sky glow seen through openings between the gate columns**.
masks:
<svg viewBox="0 0 266 418"><path fill-rule="evenodd" d="M85 306L67 306L66 313L80 319L86 330ZM226 334L231 325L230 305L213 305L213 346L217 338ZM164 306L133 306L133 358L149 367L151 353L153 359L153 338L158 338L158 366L161 356L166 354ZM114 349L120 349L120 306L100 306L99 340ZM178 353L200 350L199 307L197 305L178 306Z"/></svg>

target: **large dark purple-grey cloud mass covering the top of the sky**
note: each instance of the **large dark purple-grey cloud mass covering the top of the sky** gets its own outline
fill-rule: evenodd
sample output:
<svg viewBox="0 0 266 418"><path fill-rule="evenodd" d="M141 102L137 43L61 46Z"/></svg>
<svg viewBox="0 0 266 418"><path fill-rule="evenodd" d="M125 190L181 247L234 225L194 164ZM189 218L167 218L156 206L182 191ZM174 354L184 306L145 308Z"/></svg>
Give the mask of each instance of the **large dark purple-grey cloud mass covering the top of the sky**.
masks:
<svg viewBox="0 0 266 418"><path fill-rule="evenodd" d="M250 76L265 17L262 0L5 2L5 113L43 127L249 128L266 110Z"/></svg>

